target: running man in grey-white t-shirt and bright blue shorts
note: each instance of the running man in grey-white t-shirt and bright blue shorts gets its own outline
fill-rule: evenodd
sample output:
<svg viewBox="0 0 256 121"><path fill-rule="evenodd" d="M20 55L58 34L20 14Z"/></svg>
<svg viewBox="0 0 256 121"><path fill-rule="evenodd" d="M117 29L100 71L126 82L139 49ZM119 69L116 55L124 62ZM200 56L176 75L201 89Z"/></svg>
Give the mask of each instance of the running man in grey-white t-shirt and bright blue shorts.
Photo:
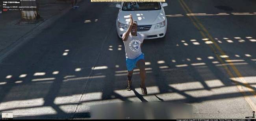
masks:
<svg viewBox="0 0 256 121"><path fill-rule="evenodd" d="M130 15L130 25L128 30L122 35L126 53L126 68L128 70L128 85L126 90L132 90L132 73L134 68L138 66L141 77L141 91L143 95L147 95L147 88L145 86L145 60L144 54L141 52L141 45L144 40L144 35L137 33L137 25L137 22L133 21L132 15Z"/></svg>

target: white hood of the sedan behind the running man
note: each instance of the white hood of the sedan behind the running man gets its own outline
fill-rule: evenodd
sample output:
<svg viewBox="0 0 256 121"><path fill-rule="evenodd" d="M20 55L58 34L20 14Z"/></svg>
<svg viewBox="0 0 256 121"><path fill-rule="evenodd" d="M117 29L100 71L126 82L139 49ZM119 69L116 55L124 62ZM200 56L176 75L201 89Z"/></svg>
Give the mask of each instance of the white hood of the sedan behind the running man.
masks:
<svg viewBox="0 0 256 121"><path fill-rule="evenodd" d="M123 24L129 24L129 15L132 14L134 21L137 21L138 25L153 25L163 22L165 13L162 10L153 11L120 11L117 20Z"/></svg>

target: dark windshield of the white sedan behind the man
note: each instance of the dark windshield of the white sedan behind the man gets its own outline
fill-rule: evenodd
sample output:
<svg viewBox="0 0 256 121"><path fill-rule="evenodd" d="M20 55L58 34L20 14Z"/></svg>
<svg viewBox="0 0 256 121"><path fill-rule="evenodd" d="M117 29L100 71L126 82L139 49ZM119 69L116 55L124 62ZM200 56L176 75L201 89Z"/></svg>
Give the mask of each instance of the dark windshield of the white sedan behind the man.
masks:
<svg viewBox="0 0 256 121"><path fill-rule="evenodd" d="M161 9L160 2L124 2L122 11L150 11Z"/></svg>

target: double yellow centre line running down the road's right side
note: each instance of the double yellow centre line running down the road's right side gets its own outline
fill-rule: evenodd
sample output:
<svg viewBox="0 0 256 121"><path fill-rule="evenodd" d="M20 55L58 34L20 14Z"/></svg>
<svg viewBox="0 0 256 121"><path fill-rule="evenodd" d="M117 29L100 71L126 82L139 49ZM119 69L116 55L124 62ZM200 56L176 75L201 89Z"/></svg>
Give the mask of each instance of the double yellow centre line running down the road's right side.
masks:
<svg viewBox="0 0 256 121"><path fill-rule="evenodd" d="M182 8L184 9L184 11L187 14L192 13L192 11L189 9L189 7L187 7L186 3L183 0L179 0L180 5L182 6ZM186 9L185 9L186 7ZM200 34L204 37L207 38L206 35L210 38L210 40L213 42L213 45L217 48L217 50L221 53L221 55L226 55L221 48L219 47L219 45L215 42L215 40L213 39L213 37L210 35L210 33L207 31L207 29L199 22L199 20L195 17L195 16L188 16L189 19L192 21L192 23L195 25L195 27L199 30ZM198 26L198 25L200 26ZM204 32L206 33L206 35L204 34ZM208 44L210 46L210 48L213 50L214 54L216 55L217 59L224 64L223 59L221 59L221 57L219 57L219 55L217 54L217 51L215 50L215 48L211 45ZM227 57L225 58L226 61L229 61L230 59ZM231 68L234 70L234 72L236 73L236 75L239 77L239 79L241 80L241 82L247 87L247 89L254 95L254 97L256 97L256 92L255 90L253 90L253 88L245 81L245 79L243 78L243 76L241 75L241 73L237 70L236 66L234 66L234 64L229 61L228 62L231 66ZM228 69L228 67L225 65L224 69L226 70L226 72L228 73L228 75L231 78L235 78L235 76L232 74L232 72ZM252 108L252 110L256 110L256 105L253 103L252 99L250 99L250 97L247 97L245 90L243 89L243 87L237 82L234 81L237 85L237 88L239 89L239 91L244 95L243 97L245 98L245 100L247 101L247 103L250 105L250 107Z"/></svg>

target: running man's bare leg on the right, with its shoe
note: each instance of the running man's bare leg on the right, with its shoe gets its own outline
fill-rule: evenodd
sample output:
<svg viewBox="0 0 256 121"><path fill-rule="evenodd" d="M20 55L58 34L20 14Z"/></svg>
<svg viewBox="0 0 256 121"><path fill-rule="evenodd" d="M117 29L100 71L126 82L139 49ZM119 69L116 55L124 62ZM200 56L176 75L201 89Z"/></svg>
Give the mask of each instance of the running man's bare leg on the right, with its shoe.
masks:
<svg viewBox="0 0 256 121"><path fill-rule="evenodd" d="M145 79L146 79L146 72L145 72L145 60L141 59L137 62L137 66L139 67L139 75L141 77L141 88L143 88L144 91L142 91L142 94L147 94L147 89L145 86Z"/></svg>

